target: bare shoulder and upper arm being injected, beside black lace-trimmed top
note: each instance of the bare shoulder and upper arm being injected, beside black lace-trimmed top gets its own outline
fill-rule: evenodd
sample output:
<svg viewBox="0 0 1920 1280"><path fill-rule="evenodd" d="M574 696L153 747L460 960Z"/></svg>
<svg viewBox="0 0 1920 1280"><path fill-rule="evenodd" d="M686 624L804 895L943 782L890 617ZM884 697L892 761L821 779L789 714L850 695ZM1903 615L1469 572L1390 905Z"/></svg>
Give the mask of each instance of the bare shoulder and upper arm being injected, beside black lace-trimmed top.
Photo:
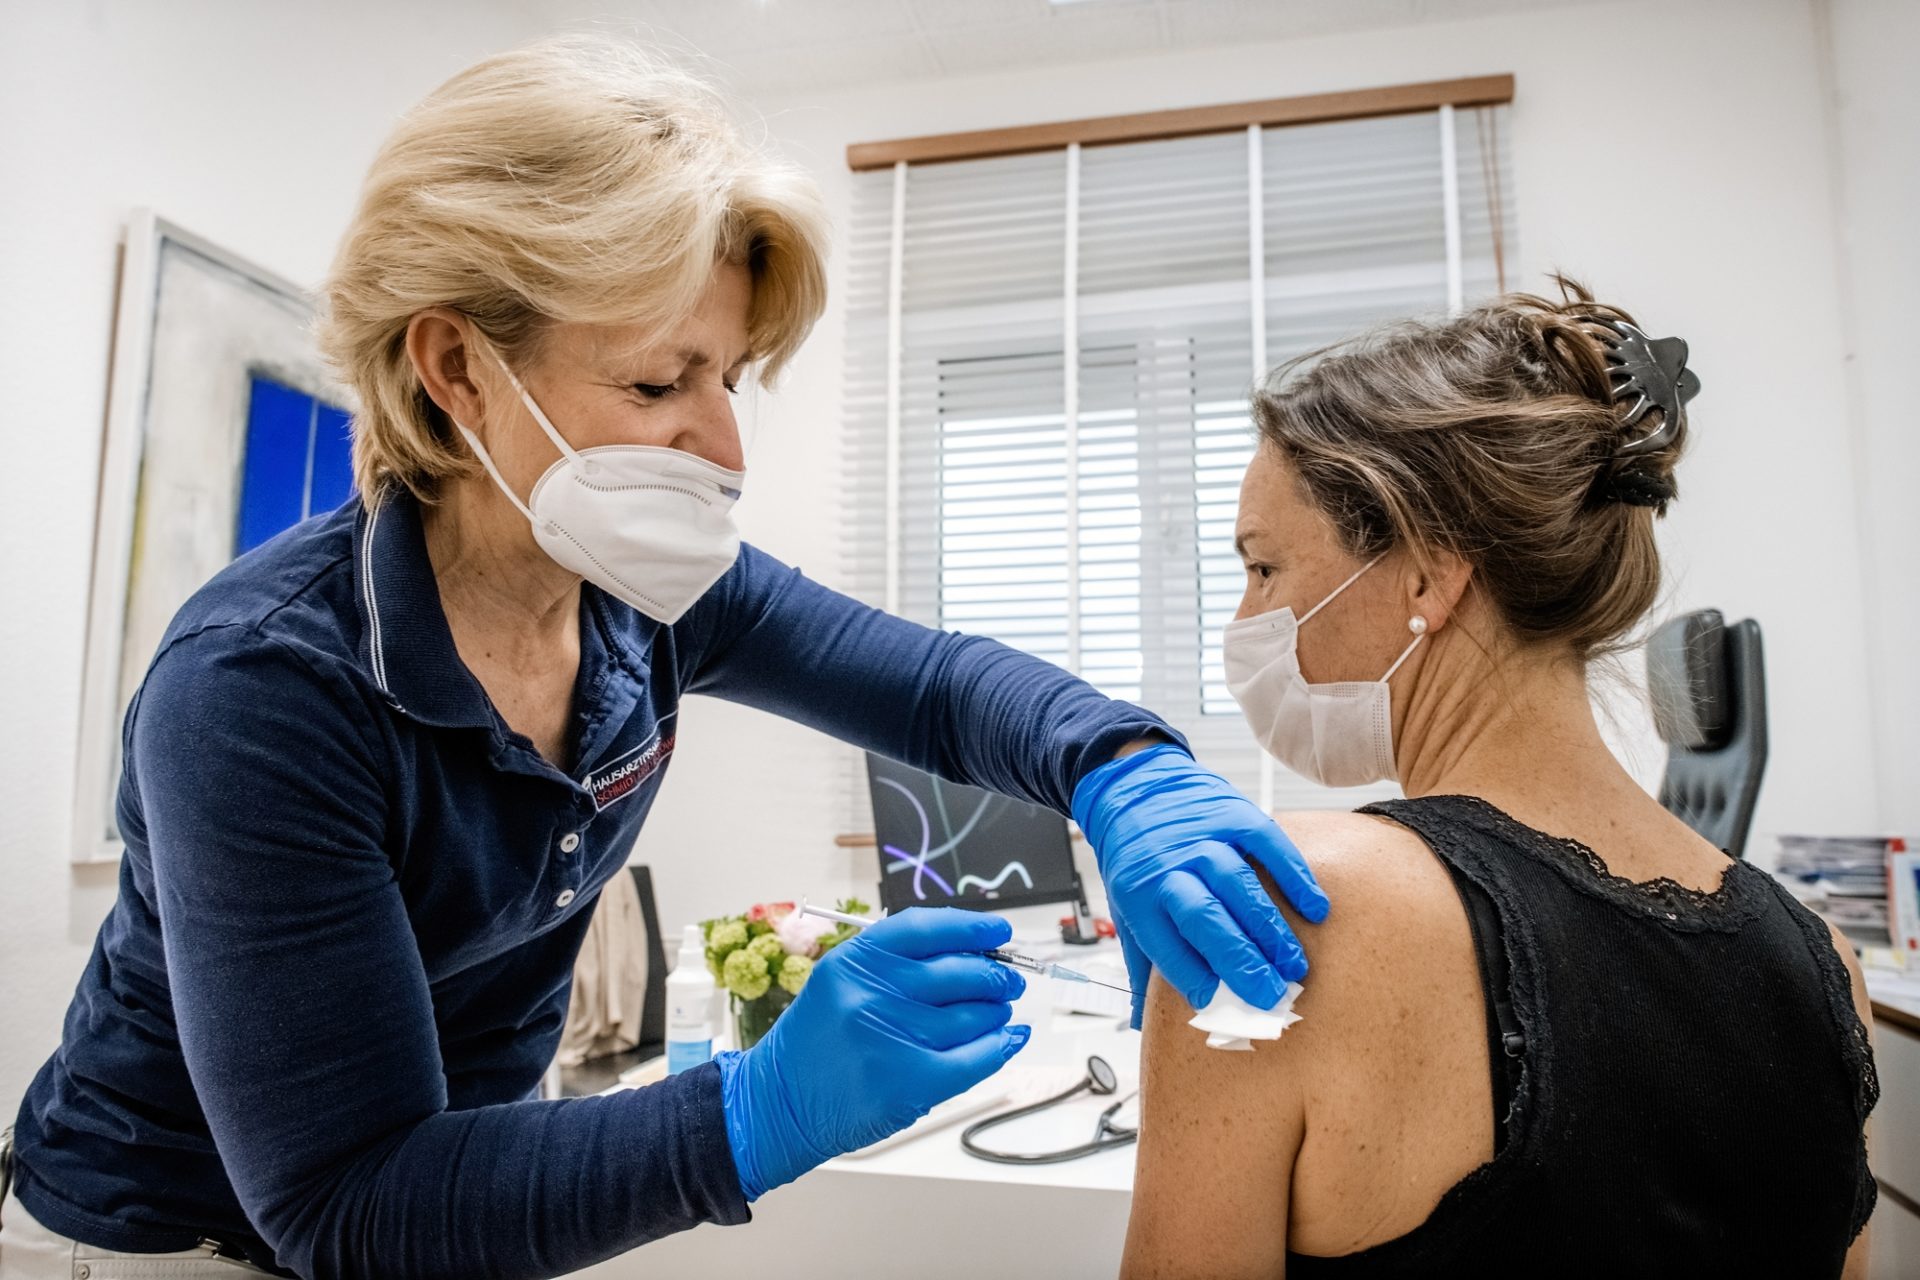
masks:
<svg viewBox="0 0 1920 1280"><path fill-rule="evenodd" d="M1288 915L1302 1021L1206 1048L1154 981L1125 1276L1279 1274L1288 1244L1350 1253L1419 1224L1492 1150L1478 961L1427 844L1365 814L1283 814L1332 908Z"/></svg>

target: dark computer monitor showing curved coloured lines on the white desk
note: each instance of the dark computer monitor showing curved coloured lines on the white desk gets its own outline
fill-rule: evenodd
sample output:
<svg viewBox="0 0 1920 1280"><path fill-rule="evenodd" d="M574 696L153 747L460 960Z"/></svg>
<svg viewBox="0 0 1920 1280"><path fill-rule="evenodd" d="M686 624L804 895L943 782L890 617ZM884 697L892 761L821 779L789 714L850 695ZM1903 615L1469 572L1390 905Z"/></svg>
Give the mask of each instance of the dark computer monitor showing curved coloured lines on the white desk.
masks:
<svg viewBox="0 0 1920 1280"><path fill-rule="evenodd" d="M879 902L1004 910L1077 902L1068 819L868 752Z"/></svg>

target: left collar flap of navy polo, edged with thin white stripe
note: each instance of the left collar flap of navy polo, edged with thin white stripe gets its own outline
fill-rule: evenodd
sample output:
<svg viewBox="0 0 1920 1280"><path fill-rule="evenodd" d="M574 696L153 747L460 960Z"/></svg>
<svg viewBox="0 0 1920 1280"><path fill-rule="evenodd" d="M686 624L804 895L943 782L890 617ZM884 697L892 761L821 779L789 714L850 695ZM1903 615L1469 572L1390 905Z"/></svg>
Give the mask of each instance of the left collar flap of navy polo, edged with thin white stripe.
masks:
<svg viewBox="0 0 1920 1280"><path fill-rule="evenodd" d="M420 503L390 489L353 522L361 660L396 710L444 727L495 727L493 706L453 647L426 558Z"/></svg>

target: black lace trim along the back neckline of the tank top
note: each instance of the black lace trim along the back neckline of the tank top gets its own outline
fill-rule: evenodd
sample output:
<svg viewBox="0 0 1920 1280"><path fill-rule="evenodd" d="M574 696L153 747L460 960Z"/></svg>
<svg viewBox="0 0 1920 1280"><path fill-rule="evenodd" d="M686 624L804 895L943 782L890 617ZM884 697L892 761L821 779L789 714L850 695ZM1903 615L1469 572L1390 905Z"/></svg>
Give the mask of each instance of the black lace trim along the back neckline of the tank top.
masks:
<svg viewBox="0 0 1920 1280"><path fill-rule="evenodd" d="M1607 862L1580 841L1528 827L1480 796L1423 796L1413 804L1478 827L1553 867L1580 892L1678 933L1736 933L1772 900L1772 877L1745 862L1728 862L1720 887L1711 890L1665 875L1630 881L1609 871Z"/></svg>

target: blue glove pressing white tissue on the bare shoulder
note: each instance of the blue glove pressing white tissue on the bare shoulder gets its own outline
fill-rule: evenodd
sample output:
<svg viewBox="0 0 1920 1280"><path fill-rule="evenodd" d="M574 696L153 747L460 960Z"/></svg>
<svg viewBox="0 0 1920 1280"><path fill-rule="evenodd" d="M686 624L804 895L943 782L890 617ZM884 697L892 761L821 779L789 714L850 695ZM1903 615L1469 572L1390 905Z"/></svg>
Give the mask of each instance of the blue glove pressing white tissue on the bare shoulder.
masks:
<svg viewBox="0 0 1920 1280"><path fill-rule="evenodd" d="M1073 821L1106 881L1135 1027L1156 967L1196 1009L1221 981L1271 1009L1286 983L1306 977L1294 931L1246 860L1313 923L1327 919L1327 894L1286 833L1225 777L1179 747L1148 747L1087 773Z"/></svg>

